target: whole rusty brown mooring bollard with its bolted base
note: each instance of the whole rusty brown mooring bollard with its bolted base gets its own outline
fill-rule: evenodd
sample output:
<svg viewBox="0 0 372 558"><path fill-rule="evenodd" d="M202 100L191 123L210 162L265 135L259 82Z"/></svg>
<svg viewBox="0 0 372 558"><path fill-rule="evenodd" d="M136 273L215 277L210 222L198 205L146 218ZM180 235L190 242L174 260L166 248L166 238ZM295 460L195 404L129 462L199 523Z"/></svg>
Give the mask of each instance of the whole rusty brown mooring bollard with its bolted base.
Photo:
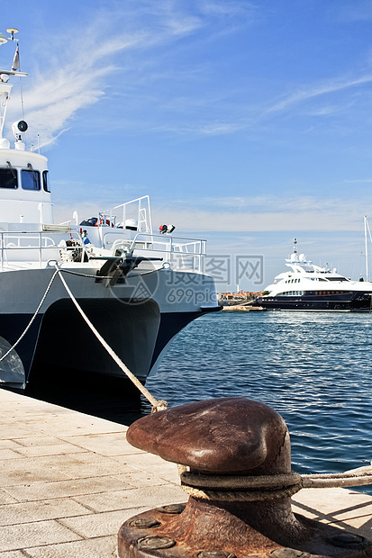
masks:
<svg viewBox="0 0 372 558"><path fill-rule="evenodd" d="M372 556L372 543L294 514L284 419L244 398L199 401L137 420L132 446L189 468L186 505L152 509L126 521L120 558L310 558Z"/></svg>

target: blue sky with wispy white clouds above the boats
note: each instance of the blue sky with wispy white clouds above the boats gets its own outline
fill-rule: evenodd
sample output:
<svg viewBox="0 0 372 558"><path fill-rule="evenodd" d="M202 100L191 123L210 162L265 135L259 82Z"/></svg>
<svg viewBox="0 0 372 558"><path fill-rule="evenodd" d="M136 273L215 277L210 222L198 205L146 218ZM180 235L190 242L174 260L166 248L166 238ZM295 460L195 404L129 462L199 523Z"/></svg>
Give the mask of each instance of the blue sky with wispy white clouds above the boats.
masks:
<svg viewBox="0 0 372 558"><path fill-rule="evenodd" d="M358 279L369 0L3 0L2 15L0 31L20 30L27 140L50 159L57 221L150 194L155 229L265 258L243 288L270 283L294 237ZM1 64L13 55L2 46Z"/></svg>

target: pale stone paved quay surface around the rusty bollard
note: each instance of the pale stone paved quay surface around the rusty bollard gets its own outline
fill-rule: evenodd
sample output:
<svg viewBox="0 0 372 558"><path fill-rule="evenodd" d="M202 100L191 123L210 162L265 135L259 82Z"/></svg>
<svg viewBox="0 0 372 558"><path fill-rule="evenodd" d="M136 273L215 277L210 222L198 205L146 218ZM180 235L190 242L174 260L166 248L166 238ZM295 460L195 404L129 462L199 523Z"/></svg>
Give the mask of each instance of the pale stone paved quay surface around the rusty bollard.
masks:
<svg viewBox="0 0 372 558"><path fill-rule="evenodd" d="M0 389L0 558L110 558L119 527L185 502L177 466L130 446L127 427ZM309 489L293 508L372 538L372 498Z"/></svg>

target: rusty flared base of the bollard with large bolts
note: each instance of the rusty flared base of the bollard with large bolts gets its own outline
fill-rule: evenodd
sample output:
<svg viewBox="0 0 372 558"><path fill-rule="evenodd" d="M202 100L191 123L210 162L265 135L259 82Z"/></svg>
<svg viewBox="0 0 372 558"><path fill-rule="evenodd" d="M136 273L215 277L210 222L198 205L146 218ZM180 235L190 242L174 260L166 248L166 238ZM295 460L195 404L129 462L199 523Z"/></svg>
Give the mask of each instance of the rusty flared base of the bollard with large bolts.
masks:
<svg viewBox="0 0 372 558"><path fill-rule="evenodd" d="M125 521L118 553L120 558L372 557L365 537L300 515L293 518L299 529L269 538L228 510L190 498L186 505L151 509Z"/></svg>

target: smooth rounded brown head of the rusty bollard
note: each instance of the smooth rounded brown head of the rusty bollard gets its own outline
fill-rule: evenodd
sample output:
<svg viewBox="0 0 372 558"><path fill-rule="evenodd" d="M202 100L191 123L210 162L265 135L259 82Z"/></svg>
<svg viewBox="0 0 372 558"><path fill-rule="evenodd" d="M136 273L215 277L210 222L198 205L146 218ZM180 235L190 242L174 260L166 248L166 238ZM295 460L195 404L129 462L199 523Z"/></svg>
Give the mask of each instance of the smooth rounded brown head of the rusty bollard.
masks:
<svg viewBox="0 0 372 558"><path fill-rule="evenodd" d="M181 405L142 417L127 432L132 446L172 463L220 474L290 470L290 451L285 457L280 451L287 437L286 423L277 411L242 397Z"/></svg>

